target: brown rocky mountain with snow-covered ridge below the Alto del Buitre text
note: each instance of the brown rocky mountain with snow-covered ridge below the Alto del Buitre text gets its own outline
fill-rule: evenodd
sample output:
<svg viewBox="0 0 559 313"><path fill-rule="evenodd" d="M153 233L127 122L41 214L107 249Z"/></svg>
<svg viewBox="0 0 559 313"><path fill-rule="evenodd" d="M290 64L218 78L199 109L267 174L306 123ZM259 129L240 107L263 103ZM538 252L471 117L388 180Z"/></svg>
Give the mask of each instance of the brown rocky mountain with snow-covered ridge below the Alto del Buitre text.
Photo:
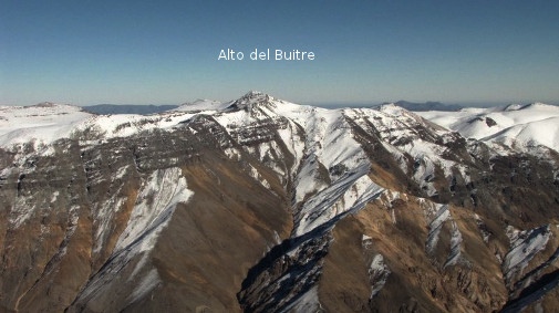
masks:
<svg viewBox="0 0 559 313"><path fill-rule="evenodd" d="M509 138L257 92L0 107L0 307L552 312L559 154Z"/></svg>

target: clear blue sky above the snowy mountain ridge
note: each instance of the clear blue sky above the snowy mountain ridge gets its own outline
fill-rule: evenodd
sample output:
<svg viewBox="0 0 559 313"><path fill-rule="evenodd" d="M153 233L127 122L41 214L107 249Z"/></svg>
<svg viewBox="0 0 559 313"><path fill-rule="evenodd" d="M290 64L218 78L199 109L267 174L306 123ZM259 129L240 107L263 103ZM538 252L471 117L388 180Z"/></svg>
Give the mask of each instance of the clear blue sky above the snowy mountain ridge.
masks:
<svg viewBox="0 0 559 313"><path fill-rule="evenodd" d="M0 104L559 102L559 1L0 0ZM245 61L218 61L221 49ZM255 49L314 61L250 61Z"/></svg>

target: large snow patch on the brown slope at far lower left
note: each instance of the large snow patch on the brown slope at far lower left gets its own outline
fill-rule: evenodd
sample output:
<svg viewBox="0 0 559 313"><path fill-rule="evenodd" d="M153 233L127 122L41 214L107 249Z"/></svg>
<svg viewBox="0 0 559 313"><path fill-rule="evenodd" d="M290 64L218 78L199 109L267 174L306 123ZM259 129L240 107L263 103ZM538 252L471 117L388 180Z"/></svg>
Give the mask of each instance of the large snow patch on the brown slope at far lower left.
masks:
<svg viewBox="0 0 559 313"><path fill-rule="evenodd" d="M126 229L103 268L82 290L79 302L93 298L103 299L103 292L118 289L121 284L131 284L134 291L128 303L141 299L155 288L161 279L155 269L146 277L138 277L149 261L148 255L157 238L167 226L178 204L185 204L193 196L187 188L180 168L157 169L152 173L141 187L136 204L132 210ZM104 231L111 231L105 229ZM132 270L130 267L134 265ZM131 273L131 274L128 274ZM139 282L136 280L141 280Z"/></svg>

